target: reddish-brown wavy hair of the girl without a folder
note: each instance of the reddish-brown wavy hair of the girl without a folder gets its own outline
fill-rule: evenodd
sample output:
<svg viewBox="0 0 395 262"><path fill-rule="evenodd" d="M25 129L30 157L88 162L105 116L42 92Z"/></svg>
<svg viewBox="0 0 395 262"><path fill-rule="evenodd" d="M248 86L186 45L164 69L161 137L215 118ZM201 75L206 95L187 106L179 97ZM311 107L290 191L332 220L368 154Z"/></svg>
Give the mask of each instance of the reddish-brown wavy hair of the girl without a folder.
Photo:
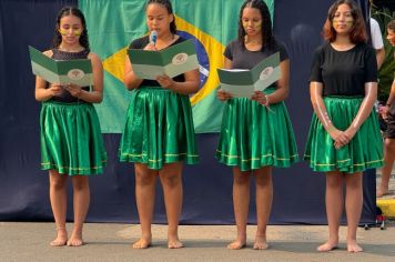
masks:
<svg viewBox="0 0 395 262"><path fill-rule="evenodd" d="M351 14L354 18L354 26L350 32L350 39L353 43L366 42L367 41L367 33L366 33L366 26L364 18L362 16L362 11L359 7L353 0L337 0L334 2L328 12L327 18L324 24L323 34L326 41L333 42L336 40L336 31L333 28L333 19L337 11L338 6L347 4L351 9Z"/></svg>

